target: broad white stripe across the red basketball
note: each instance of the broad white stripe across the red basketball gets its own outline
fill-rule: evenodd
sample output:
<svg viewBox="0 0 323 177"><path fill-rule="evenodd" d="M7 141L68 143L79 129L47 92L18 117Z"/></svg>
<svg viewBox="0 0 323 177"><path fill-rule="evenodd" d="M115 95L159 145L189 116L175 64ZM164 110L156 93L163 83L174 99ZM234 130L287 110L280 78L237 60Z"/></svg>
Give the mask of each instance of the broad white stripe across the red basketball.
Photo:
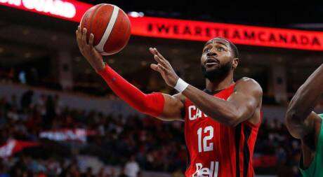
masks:
<svg viewBox="0 0 323 177"><path fill-rule="evenodd" d="M103 34L103 37L101 38L100 43L98 45L95 45L96 50L98 50L99 52L104 52L103 48L112 32L114 23L117 21L118 14L119 14L119 7L113 6L113 12L110 18L110 22L109 24L107 24L107 28L105 29L105 33Z"/></svg>

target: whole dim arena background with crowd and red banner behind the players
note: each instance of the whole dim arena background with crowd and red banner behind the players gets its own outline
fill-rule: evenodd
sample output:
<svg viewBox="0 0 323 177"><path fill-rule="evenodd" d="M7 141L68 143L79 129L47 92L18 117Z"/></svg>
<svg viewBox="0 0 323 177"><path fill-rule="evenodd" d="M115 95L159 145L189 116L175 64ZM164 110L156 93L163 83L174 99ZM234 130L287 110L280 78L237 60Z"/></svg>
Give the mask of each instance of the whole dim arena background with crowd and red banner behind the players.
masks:
<svg viewBox="0 0 323 177"><path fill-rule="evenodd" d="M254 78L264 92L256 176L299 176L300 143L286 131L284 112L323 62L323 6L117 0L0 0L0 176L119 176L136 164L139 176L182 176L183 124L134 111L81 57L74 31L98 3L131 18L131 40L106 62L144 92L175 93L149 68L149 47L202 89L205 41L236 43L236 79Z"/></svg>

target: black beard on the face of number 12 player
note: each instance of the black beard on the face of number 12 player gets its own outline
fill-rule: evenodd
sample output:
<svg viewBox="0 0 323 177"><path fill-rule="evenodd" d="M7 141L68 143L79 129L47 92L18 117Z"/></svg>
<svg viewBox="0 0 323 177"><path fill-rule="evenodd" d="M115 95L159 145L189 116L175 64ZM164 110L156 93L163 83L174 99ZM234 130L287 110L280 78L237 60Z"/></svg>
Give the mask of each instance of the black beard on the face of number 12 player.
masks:
<svg viewBox="0 0 323 177"><path fill-rule="evenodd" d="M206 71L206 66L201 65L201 69L204 78L208 78L210 81L221 80L225 78L225 76L228 76L228 73L232 69L232 62L220 65L218 68L209 71Z"/></svg>

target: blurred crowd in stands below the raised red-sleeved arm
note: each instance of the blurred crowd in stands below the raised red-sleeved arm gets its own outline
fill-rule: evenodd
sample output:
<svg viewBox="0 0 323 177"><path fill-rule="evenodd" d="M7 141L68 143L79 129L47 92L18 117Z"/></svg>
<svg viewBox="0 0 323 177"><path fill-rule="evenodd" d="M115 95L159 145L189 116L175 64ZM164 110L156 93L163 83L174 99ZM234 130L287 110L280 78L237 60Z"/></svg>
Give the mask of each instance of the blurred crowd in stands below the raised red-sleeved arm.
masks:
<svg viewBox="0 0 323 177"><path fill-rule="evenodd" d="M66 150L56 150L53 157L40 150L27 152L29 156L36 156L41 169L46 169L47 161L56 160L60 169L64 169L64 157L85 154L98 156L106 164L123 166L131 155L136 158L140 168L152 171L175 171L185 169L186 152L183 140L183 125L180 122L164 124L153 118L138 118L131 116L124 118L121 115L103 115L97 112L88 112L62 108L58 96L41 95L33 101L33 92L28 91L18 101L13 95L10 100L0 99L0 144L4 145L9 139L25 141L41 141L39 132L46 129L91 129L98 134L89 136L88 142L77 150L70 150L71 155L65 155ZM53 146L59 146L51 143ZM44 148L44 147L43 147ZM45 147L46 148L46 147ZM55 148L55 149L59 149ZM69 147L73 148L73 147ZM47 149L48 150L48 149ZM77 151L77 152L75 152ZM53 153L53 152L51 152ZM28 161L23 155L17 162ZM20 155L19 154L19 155ZM16 155L18 158L20 156ZM44 157L43 159L39 157ZM62 162L61 162L62 161ZM3 163L4 164L4 163ZM11 163L6 163L11 164ZM42 165L41 165L42 164ZM8 167L1 166L2 173L22 171L13 163ZM38 165L37 165L38 167ZM69 167L69 166L67 166ZM27 168L28 169L28 168ZM33 168L29 168L33 169ZM63 170L62 170L63 171Z"/></svg>

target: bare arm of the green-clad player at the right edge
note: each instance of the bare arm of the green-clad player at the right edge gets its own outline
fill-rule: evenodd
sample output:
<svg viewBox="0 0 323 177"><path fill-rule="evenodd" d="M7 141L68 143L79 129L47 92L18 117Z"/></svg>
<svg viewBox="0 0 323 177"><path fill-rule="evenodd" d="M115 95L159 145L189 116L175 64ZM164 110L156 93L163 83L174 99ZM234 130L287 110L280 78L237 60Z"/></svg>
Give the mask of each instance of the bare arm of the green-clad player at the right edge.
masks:
<svg viewBox="0 0 323 177"><path fill-rule="evenodd" d="M320 120L312 111L322 94L323 64L297 90L287 108L286 126L295 138L303 139L313 131L315 120Z"/></svg>

